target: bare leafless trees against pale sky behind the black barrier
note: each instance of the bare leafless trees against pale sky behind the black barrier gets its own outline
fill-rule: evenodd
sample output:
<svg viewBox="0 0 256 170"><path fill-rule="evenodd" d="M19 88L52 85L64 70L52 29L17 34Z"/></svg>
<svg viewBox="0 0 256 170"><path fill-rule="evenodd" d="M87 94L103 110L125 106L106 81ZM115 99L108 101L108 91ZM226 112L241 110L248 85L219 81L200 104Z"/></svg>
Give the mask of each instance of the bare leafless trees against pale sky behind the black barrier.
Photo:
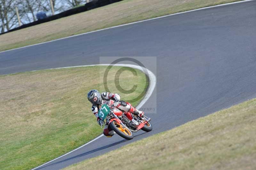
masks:
<svg viewBox="0 0 256 170"><path fill-rule="evenodd" d="M56 13L85 4L86 0L52 0ZM0 0L0 29L3 33L18 26L15 7L18 8L22 24L36 21L38 12L50 12L50 0Z"/></svg>

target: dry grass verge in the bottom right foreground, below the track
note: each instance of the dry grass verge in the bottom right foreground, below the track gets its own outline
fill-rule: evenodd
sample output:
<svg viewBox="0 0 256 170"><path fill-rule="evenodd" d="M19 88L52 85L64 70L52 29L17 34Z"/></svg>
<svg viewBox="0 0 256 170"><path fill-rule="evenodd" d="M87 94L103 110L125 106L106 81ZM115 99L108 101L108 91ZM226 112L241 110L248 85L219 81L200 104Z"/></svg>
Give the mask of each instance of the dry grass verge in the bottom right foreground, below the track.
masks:
<svg viewBox="0 0 256 170"><path fill-rule="evenodd" d="M255 129L256 99L252 99L65 170L256 169ZM99 164L111 159L115 162Z"/></svg>

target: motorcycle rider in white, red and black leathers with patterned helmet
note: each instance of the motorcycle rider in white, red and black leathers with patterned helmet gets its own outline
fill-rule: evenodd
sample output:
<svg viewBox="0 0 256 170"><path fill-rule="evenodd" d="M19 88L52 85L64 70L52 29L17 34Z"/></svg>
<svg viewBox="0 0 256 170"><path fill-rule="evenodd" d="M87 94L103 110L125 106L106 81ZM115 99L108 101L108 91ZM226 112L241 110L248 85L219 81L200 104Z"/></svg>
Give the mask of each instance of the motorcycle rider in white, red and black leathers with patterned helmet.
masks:
<svg viewBox="0 0 256 170"><path fill-rule="evenodd" d="M98 90L91 90L87 94L88 100L92 103L92 112L97 118L97 122L99 125L104 125L104 121L101 121L98 116L98 110L100 110L99 106L104 101L114 100L114 106L118 109L123 110L125 112L130 112L132 114L138 115L142 117L144 112L137 110L136 108L132 107L130 103L120 101L120 96L118 94L113 94L109 92L101 93ZM114 132L109 126L108 123L105 125L103 134L108 137L112 137L116 132Z"/></svg>

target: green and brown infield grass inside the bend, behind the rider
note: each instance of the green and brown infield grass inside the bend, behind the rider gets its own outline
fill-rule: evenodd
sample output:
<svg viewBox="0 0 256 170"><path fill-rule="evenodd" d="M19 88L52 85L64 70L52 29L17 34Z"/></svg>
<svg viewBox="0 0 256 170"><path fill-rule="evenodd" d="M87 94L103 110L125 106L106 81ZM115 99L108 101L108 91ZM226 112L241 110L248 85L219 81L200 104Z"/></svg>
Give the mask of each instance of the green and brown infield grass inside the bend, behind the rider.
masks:
<svg viewBox="0 0 256 170"><path fill-rule="evenodd" d="M109 89L124 100L137 97L148 84L145 75L122 72L123 89L138 82L135 92L122 94L114 85L119 68L108 74ZM86 95L90 89L104 91L103 73L94 66L0 76L0 169L31 169L100 135Z"/></svg>

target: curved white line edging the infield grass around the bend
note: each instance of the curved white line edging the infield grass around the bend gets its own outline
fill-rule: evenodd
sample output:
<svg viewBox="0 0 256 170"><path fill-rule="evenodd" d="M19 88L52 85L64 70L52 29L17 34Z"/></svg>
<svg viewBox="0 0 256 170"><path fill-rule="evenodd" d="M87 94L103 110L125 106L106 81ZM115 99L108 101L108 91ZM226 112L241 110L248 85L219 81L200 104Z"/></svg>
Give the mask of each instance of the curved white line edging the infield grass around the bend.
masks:
<svg viewBox="0 0 256 170"><path fill-rule="evenodd" d="M109 66L109 64L96 64L96 65L87 65L87 66L59 67L59 68L50 68L50 69L45 69L45 70L61 69L61 68L74 68L74 67L88 67L88 66ZM136 69L138 69L138 70L144 72L142 67L136 66L136 65L132 65L132 64L115 64L115 65L113 65L113 66L132 67L132 68L136 68ZM146 69L147 69L147 68L146 68ZM38 70L35 70L35 71L38 71ZM145 97L144 97L143 100L140 102L140 104L137 106L138 108L140 108L143 104L145 104L145 103L147 102L148 98L151 96L151 94L153 93L153 91L154 91L154 89L155 89L155 87L156 87L156 76L155 76L155 74L152 73L152 72L151 72L150 70L148 70L148 69L147 69L147 71L148 71L148 73L145 73L145 74L147 74L147 76L148 76L148 78L149 78L149 86L148 86L148 90L147 90L147 92L146 92L146 94L145 94ZM69 153L74 152L74 151L76 151L76 150L78 150L78 149L84 147L85 145L88 145L89 143L92 143L93 141L96 141L97 139L99 139L99 138L102 137L102 136L104 136L104 135L102 134L102 135L96 137L95 139L91 140L90 142L87 142L87 143L85 143L84 145L82 145L82 146L80 146L80 147L78 147L78 148L76 148L76 149L74 149L74 150L72 150L72 151L70 151L70 152L68 152L68 153L66 153L66 154L64 154L64 155L62 155L62 156L60 156L60 157L58 157L58 158L55 158L55 159L53 159L53 160L51 160L51 161L49 161L49 162L46 162L46 163L44 163L43 165L37 166L36 168L33 168L32 170L35 170L35 169L37 169L37 168L39 168L39 167L41 167L41 166L44 166L44 165L46 165L46 164L48 164L48 163L50 163L50 162L52 162L52 161L54 161L54 160L56 160L56 159L59 159L59 158L61 158L61 157L64 157L65 155L68 155Z"/></svg>

